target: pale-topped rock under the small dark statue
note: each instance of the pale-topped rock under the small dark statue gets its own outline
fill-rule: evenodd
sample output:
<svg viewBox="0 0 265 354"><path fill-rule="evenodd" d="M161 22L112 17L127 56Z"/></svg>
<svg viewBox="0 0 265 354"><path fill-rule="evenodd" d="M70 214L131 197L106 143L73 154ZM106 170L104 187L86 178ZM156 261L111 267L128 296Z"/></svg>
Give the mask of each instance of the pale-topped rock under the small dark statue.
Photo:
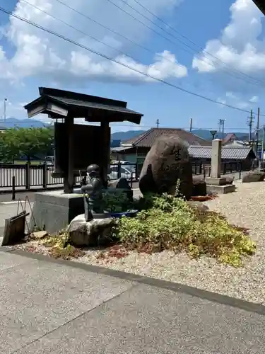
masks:
<svg viewBox="0 0 265 354"><path fill-rule="evenodd" d="M111 238L112 227L115 224L115 219L112 217L86 222L84 214L78 215L67 229L69 241L74 246L98 246Z"/></svg>

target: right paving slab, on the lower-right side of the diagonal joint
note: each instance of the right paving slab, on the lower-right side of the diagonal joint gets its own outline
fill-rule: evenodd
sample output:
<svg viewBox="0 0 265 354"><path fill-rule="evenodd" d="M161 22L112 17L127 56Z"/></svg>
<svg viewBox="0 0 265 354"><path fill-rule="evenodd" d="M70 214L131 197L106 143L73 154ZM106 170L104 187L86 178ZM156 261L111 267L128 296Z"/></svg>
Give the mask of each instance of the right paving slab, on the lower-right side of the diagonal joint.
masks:
<svg viewBox="0 0 265 354"><path fill-rule="evenodd" d="M18 354L264 353L265 317L138 285Z"/></svg>

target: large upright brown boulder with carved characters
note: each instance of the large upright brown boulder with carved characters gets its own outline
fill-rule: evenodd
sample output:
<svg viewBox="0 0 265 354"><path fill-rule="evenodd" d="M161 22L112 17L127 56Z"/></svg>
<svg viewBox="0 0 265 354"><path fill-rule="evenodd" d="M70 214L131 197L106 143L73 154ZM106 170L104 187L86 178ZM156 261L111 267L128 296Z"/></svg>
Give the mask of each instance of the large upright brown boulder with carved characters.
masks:
<svg viewBox="0 0 265 354"><path fill-rule="evenodd" d="M155 140L139 178L141 193L179 194L192 197L192 164L187 145L179 137L163 135Z"/></svg>

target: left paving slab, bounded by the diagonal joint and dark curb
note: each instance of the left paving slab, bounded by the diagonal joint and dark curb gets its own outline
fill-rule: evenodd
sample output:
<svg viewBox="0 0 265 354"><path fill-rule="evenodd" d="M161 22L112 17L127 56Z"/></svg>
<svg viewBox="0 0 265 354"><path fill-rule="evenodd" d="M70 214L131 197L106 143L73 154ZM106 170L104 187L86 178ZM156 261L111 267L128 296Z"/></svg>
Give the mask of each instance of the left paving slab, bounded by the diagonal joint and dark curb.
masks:
<svg viewBox="0 0 265 354"><path fill-rule="evenodd" d="M0 353L11 354L134 286L65 265L30 258L21 263L21 258L0 253L0 263L13 264L0 272Z"/></svg>

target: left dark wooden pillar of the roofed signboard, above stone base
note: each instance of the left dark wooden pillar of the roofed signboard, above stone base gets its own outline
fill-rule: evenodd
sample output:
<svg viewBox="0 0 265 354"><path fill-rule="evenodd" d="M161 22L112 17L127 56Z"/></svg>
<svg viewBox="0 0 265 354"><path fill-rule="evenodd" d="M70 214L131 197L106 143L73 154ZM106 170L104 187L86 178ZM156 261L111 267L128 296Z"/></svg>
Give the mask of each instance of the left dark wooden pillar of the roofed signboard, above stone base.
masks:
<svg viewBox="0 0 265 354"><path fill-rule="evenodd" d="M66 125L66 141L68 142L68 166L66 176L64 177L64 193L73 193L73 117L65 118L64 124Z"/></svg>

